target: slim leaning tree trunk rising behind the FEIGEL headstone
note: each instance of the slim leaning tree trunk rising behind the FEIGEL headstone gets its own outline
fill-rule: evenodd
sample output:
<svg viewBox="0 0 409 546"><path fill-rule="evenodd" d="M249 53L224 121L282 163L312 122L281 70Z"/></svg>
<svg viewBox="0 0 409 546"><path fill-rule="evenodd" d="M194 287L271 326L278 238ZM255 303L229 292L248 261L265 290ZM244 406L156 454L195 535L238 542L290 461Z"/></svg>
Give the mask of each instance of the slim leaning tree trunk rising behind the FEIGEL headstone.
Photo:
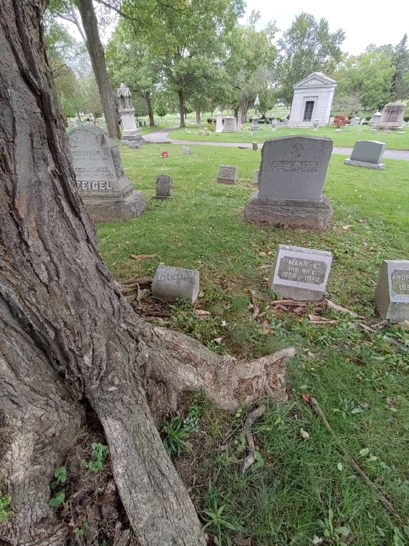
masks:
<svg viewBox="0 0 409 546"><path fill-rule="evenodd" d="M121 138L121 129L118 123L118 109L113 98L112 89L106 72L105 53L98 32L98 21L95 15L92 0L78 0L76 2L81 15L82 26L87 36L87 49L91 57L95 80L97 80L99 96L104 109L106 128L113 139Z"/></svg>

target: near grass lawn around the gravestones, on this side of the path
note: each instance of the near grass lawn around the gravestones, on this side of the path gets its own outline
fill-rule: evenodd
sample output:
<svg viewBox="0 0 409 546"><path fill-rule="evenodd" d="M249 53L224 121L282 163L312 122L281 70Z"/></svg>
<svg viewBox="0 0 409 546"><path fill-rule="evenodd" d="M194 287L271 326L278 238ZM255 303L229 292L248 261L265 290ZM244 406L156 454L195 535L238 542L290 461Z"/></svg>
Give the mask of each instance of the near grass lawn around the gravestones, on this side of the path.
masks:
<svg viewBox="0 0 409 546"><path fill-rule="evenodd" d="M239 358L297 348L288 369L289 401L265 401L267 412L253 427L260 456L244 476L248 408L230 414L195 397L182 416L199 418L199 426L189 437L191 451L175 464L203 523L210 522L206 531L220 532L224 545L308 546L316 536L323 542L315 544L326 546L345 544L343 533L355 546L408 544L408 333L395 326L369 333L359 320L333 311L323 313L339 319L330 326L312 325L306 315L274 314L274 295L265 283L279 243L330 250L327 296L375 319L381 260L409 258L407 163L386 160L384 171L372 171L333 156L324 188L334 206L333 222L328 231L309 232L243 220L260 152L192 146L192 155L182 156L182 146L168 145L169 158L163 159L163 147L121 147L125 173L142 190L148 210L135 220L98 225L100 252L111 270L121 279L153 275L160 262L200 269L195 307L210 316L200 319L181 302L164 325ZM220 164L238 165L237 185L216 183ZM172 199L150 199L160 173L173 177ZM352 227L345 230L346 225ZM129 258L142 253L156 256L143 262ZM250 318L249 288L260 304L258 323ZM390 339L406 340L406 348ZM404 524L390 517L357 476L302 393L316 397L336 437L387 494ZM300 437L300 429L308 439ZM231 442L219 450L229 432ZM218 510L221 519L209 515Z"/></svg>

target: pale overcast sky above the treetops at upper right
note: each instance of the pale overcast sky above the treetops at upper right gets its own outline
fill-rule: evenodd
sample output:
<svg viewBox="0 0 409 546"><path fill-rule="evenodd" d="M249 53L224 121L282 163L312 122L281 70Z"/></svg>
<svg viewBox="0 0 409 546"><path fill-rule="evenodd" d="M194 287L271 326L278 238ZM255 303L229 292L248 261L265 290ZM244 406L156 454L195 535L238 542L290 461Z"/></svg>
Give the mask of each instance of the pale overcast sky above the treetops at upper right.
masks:
<svg viewBox="0 0 409 546"><path fill-rule="evenodd" d="M369 44L395 45L405 32L409 34L408 0L390 4L362 0L314 0L310 3L303 0L291 0L290 3L247 0L245 18L253 9L260 11L260 28L275 20L277 26L285 30L302 11L311 13L317 20L325 17L330 31L344 29L346 40L342 49L351 55L361 53Z"/></svg>

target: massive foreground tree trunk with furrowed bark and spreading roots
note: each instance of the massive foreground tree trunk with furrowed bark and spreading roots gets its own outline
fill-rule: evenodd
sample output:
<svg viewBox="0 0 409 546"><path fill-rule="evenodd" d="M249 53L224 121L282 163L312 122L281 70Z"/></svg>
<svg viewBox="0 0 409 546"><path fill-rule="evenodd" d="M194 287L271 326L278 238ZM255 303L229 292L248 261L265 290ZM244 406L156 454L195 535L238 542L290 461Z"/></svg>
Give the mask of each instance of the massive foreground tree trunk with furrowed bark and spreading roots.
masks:
<svg viewBox="0 0 409 546"><path fill-rule="evenodd" d="M261 394L285 400L293 350L250 363L220 357L145 323L122 297L76 192L49 84L44 4L0 0L0 489L13 508L0 543L64 543L50 480L87 402L141 546L204 546L155 417L201 390L227 409Z"/></svg>

